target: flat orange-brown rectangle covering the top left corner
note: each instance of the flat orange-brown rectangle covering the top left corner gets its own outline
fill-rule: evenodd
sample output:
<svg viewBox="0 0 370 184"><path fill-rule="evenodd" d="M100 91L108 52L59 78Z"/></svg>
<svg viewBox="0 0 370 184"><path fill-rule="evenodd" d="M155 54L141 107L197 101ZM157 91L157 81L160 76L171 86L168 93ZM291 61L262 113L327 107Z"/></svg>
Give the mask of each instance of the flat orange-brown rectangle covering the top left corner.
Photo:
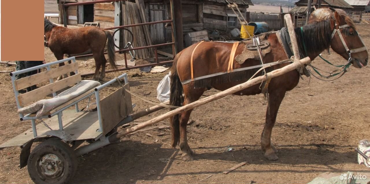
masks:
<svg viewBox="0 0 370 184"><path fill-rule="evenodd" d="M44 61L44 0L1 0L1 61Z"/></svg>

